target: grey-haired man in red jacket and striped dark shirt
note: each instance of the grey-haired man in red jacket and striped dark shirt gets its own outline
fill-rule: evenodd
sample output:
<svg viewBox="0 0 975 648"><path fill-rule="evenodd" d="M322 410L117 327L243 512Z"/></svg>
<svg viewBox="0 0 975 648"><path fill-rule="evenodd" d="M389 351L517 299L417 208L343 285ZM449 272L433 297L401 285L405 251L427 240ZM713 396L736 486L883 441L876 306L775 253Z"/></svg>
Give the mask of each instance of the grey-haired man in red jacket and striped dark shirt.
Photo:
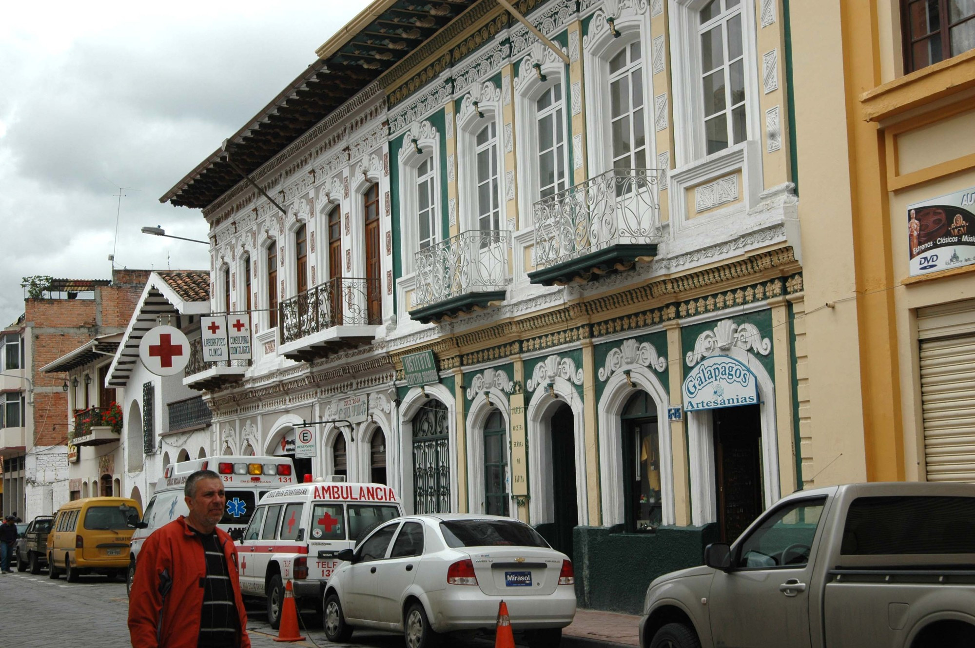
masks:
<svg viewBox="0 0 975 648"><path fill-rule="evenodd" d="M213 470L183 487L189 515L157 529L139 552L129 598L134 648L250 648L237 548L216 527L226 495Z"/></svg>

